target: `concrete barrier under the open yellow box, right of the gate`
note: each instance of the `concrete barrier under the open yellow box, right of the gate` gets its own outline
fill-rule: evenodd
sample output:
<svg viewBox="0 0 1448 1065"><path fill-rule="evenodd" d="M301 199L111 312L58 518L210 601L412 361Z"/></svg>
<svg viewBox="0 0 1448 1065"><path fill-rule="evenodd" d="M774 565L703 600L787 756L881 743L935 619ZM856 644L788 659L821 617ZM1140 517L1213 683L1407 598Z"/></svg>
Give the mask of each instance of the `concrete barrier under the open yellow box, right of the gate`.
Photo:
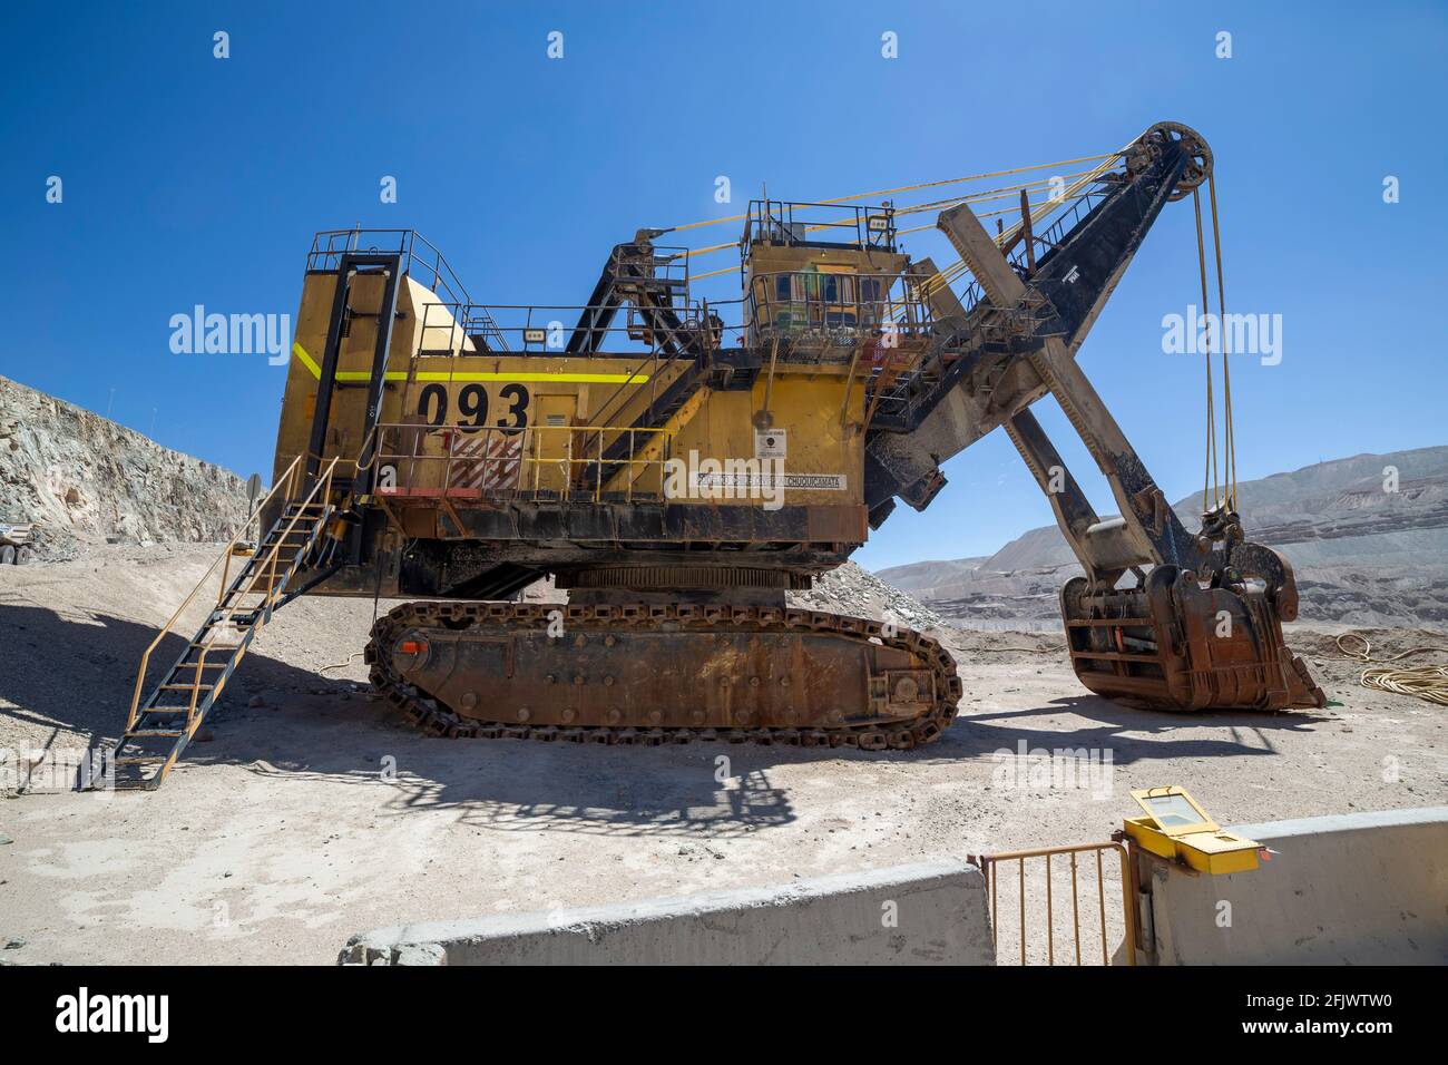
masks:
<svg viewBox="0 0 1448 1065"><path fill-rule="evenodd" d="M1160 965L1448 962L1448 807L1228 829L1276 853L1251 872L1196 877L1141 853ZM1226 904L1226 906L1224 906ZM1229 909L1228 909L1229 907Z"/></svg>

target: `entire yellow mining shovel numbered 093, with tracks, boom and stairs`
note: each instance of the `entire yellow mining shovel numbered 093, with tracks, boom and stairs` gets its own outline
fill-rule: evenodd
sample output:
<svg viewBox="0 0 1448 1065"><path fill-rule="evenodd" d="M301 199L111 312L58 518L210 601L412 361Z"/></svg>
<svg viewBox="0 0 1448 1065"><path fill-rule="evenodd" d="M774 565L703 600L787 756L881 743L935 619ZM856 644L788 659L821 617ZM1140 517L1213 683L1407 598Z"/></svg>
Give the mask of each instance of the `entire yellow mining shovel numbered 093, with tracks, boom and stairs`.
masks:
<svg viewBox="0 0 1448 1065"><path fill-rule="evenodd" d="M473 303L411 230L319 233L268 532L223 554L214 609L149 688L174 625L148 651L119 782L159 784L256 630L303 594L407 600L365 658L437 735L928 743L961 696L951 656L785 594L896 500L925 509L941 464L996 427L1085 569L1061 613L1087 688L1167 710L1322 706L1283 643L1287 562L1245 538L1232 496L1189 533L1076 362L1158 213L1211 180L1211 151L1161 123L1070 162L1093 165L1037 201L1047 181L915 207L762 199L737 245L702 249L660 243L688 227L641 229L579 307ZM927 210L960 256L944 270L899 246L901 219ZM982 220L1012 210L995 233ZM741 294L696 300L691 259L720 248L738 249ZM1031 413L1047 394L1118 517ZM566 604L520 597L544 577Z"/></svg>

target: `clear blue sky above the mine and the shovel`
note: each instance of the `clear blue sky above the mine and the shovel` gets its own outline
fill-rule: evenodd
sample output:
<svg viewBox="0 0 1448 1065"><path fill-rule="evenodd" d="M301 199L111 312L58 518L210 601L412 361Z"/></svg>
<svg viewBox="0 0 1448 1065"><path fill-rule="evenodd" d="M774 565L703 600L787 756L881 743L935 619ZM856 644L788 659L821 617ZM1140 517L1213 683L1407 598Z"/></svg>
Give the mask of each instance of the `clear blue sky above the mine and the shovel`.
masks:
<svg viewBox="0 0 1448 1065"><path fill-rule="evenodd" d="M1283 314L1281 364L1234 377L1241 475L1448 443L1445 55L1442 3L9 3L0 374L142 432L155 410L161 443L266 472L284 371L175 355L168 322L294 314L313 230L417 227L473 298L582 303L636 227L736 213L760 183L833 197L1173 119L1216 152L1228 307ZM720 174L734 204L714 203ZM1161 316L1196 301L1190 214L1167 209L1082 351L1171 497L1202 477L1200 364L1161 352ZM999 433L946 472L860 562L985 554L1050 522Z"/></svg>

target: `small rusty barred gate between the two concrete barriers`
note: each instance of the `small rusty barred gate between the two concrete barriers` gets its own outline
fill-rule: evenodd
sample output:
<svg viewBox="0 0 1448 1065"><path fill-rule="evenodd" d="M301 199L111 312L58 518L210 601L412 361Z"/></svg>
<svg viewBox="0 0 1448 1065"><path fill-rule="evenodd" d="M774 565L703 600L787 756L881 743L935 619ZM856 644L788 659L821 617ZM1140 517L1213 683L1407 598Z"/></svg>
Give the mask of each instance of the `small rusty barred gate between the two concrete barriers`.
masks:
<svg viewBox="0 0 1448 1065"><path fill-rule="evenodd" d="M1116 855L1116 869L1105 858L1109 852ZM1122 945L1121 964L1137 964L1137 914L1131 858L1125 845L1111 842L1006 851L980 855L975 861L986 874L990 893L990 935L998 964L1014 964L1018 958L1019 965L1056 965L1056 930L1057 926L1066 927L1067 914L1072 935L1069 940L1063 937L1060 951L1067 964L1096 964L1099 952L1100 964L1111 965L1111 943L1118 936ZM1066 874L1060 877L1061 881L1069 875L1069 894L1056 888L1057 874ZM1092 887L1095 891L1090 891ZM1009 895L1012 890L1016 893L1016 904L1009 906L1008 897L1008 904L1002 907L1001 894ZM1014 937L1018 952L1012 951L1009 961L1002 955L1002 939L1006 937L1002 930L1008 935L1016 932Z"/></svg>

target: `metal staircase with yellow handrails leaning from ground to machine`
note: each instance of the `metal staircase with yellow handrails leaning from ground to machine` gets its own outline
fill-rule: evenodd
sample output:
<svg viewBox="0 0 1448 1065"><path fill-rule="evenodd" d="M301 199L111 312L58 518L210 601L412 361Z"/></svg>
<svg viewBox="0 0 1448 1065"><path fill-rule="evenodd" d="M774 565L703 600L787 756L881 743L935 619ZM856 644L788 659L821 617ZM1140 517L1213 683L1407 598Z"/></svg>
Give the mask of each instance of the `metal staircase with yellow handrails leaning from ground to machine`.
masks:
<svg viewBox="0 0 1448 1065"><path fill-rule="evenodd" d="M292 578L317 561L319 546L333 514L330 497L336 464L337 459L333 458L314 475L310 490L301 493L297 488L304 484L304 465L303 456L298 456L262 500L262 511L274 500L287 503L236 577L230 575L230 559L246 554L246 548L233 539L146 648L136 671L126 730L111 752L117 790L153 791L161 787L161 781L216 706L256 632L287 601ZM207 611L201 627L142 701L152 652L174 630L177 620L207 585L217 567L222 568L222 581L216 606ZM103 782L96 780L93 787Z"/></svg>

